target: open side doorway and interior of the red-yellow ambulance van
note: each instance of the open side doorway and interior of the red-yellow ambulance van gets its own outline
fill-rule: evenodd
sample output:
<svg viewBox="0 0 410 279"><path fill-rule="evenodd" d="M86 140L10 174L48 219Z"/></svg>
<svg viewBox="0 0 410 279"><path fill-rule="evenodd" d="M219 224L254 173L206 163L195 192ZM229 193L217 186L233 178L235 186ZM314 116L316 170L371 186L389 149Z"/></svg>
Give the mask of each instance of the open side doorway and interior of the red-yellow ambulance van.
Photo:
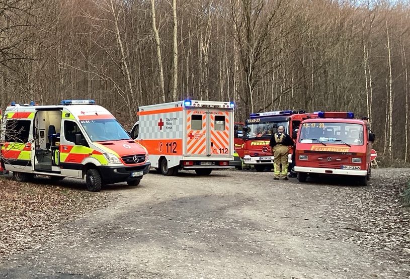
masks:
<svg viewBox="0 0 410 279"><path fill-rule="evenodd" d="M34 169L59 171L58 151L60 146L62 112L60 110L38 111L34 119L35 157Z"/></svg>

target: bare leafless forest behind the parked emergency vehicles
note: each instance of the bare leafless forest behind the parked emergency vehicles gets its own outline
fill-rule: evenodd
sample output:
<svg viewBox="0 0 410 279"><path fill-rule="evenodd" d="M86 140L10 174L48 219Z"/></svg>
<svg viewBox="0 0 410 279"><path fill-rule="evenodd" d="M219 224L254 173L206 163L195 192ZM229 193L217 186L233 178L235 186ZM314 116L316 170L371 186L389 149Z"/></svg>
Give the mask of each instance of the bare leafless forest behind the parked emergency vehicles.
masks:
<svg viewBox="0 0 410 279"><path fill-rule="evenodd" d="M368 116L386 165L408 163L410 2L0 0L0 108L95 99L235 101ZM393 125L394 123L394 125Z"/></svg>

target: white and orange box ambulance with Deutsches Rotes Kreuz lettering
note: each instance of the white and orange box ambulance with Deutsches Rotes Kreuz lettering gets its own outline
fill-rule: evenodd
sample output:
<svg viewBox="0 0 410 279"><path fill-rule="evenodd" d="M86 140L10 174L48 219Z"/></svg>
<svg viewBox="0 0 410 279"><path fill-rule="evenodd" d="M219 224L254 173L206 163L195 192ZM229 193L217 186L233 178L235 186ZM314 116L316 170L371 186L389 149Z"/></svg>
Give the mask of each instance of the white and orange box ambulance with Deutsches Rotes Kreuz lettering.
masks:
<svg viewBox="0 0 410 279"><path fill-rule="evenodd" d="M184 169L209 175L212 169L231 168L233 109L233 102L192 100L143 106L130 135L162 174Z"/></svg>

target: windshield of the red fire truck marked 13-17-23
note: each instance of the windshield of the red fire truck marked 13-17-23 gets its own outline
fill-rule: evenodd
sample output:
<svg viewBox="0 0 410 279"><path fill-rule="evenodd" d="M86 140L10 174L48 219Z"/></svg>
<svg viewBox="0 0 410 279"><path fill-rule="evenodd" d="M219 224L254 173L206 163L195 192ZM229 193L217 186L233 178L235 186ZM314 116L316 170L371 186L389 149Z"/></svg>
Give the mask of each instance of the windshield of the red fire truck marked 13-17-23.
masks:
<svg viewBox="0 0 410 279"><path fill-rule="evenodd" d="M351 123L303 123L300 143L363 145L363 126Z"/></svg>

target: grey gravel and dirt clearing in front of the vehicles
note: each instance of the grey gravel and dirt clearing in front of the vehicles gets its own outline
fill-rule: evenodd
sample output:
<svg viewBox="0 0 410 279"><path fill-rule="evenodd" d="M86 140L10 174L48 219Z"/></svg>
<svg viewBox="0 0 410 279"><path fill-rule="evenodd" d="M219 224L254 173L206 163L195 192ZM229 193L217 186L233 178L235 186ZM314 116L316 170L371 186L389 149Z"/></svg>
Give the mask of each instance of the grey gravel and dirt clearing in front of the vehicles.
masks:
<svg viewBox="0 0 410 279"><path fill-rule="evenodd" d="M150 173L0 264L4 278L405 278L410 169L354 181L273 173ZM63 187L79 188L75 180ZM347 185L339 185L347 184Z"/></svg>

